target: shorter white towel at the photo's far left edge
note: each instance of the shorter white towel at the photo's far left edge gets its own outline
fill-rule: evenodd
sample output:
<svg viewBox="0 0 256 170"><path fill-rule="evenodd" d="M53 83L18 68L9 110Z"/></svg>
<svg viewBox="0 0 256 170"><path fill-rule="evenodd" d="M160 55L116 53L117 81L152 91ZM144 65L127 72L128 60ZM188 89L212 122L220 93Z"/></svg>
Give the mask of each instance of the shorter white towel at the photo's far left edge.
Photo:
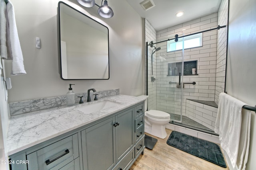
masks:
<svg viewBox="0 0 256 170"><path fill-rule="evenodd" d="M0 56L7 59L6 47L6 3L0 0Z"/></svg>

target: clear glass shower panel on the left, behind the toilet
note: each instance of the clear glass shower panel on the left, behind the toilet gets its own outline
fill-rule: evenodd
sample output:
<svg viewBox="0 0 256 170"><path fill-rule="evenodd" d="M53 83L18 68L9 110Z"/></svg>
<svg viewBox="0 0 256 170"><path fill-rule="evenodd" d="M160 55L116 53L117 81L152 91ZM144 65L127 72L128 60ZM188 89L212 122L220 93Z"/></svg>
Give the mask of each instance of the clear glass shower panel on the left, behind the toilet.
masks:
<svg viewBox="0 0 256 170"><path fill-rule="evenodd" d="M182 36L182 35L179 35ZM170 37L174 38L173 37ZM174 40L173 40L174 41ZM151 41L150 41L151 42ZM170 114L171 121L182 121L184 50L167 52L168 42L156 43L147 48L148 110ZM172 46L174 44L171 44ZM176 44L183 47L182 38Z"/></svg>

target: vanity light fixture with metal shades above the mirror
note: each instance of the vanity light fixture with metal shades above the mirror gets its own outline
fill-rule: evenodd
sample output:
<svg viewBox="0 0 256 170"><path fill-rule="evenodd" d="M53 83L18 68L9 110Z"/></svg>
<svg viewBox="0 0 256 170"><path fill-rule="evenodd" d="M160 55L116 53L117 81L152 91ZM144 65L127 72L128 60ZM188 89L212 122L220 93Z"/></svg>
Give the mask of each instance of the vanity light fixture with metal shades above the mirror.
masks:
<svg viewBox="0 0 256 170"><path fill-rule="evenodd" d="M77 2L87 8L91 8L95 5L95 0L77 0ZM103 2L103 0L102 0L102 2ZM108 6L108 1L104 0L103 5L102 5L102 2L101 2L101 6L98 6L96 4L96 6L99 7L98 14L100 16L102 16L103 18L111 18L112 16L114 16L114 12L113 12L112 8L110 8L110 6Z"/></svg>

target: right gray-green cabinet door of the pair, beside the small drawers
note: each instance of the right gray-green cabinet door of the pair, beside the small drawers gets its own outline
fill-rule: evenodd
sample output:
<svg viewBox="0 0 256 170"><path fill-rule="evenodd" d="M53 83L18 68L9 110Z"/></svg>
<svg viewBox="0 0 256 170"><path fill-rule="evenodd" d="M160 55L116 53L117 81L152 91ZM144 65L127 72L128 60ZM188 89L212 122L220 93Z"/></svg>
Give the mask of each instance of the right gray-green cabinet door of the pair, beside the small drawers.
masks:
<svg viewBox="0 0 256 170"><path fill-rule="evenodd" d="M117 162L132 148L133 146L133 109L129 109L116 115L116 155Z"/></svg>

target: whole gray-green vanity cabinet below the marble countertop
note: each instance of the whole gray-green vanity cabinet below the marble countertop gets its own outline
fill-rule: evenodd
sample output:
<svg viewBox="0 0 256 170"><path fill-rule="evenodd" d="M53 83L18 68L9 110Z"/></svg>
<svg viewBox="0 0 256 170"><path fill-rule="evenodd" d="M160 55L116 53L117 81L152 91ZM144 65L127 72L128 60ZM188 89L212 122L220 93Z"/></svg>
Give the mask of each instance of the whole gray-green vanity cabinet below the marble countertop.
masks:
<svg viewBox="0 0 256 170"><path fill-rule="evenodd" d="M144 102L10 155L12 170L128 170L144 152Z"/></svg>

